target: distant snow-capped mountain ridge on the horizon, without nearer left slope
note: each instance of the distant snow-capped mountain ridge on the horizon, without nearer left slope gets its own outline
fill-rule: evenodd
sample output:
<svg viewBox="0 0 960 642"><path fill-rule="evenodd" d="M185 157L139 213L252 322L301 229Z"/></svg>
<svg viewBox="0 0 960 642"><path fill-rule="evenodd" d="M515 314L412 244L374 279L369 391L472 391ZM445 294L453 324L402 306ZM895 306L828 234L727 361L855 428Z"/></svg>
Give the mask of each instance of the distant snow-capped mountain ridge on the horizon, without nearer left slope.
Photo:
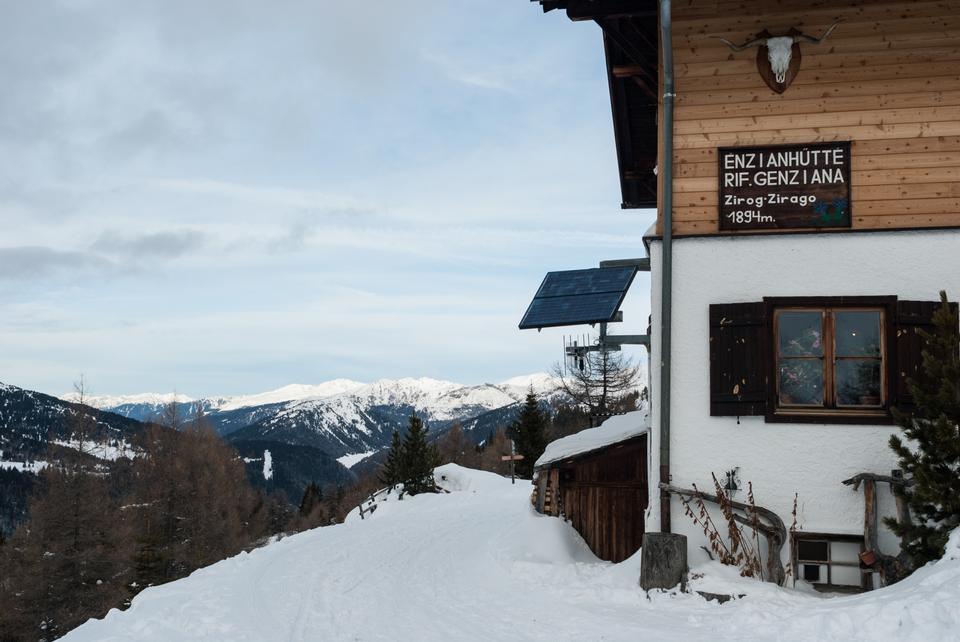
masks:
<svg viewBox="0 0 960 642"><path fill-rule="evenodd" d="M160 419L165 407L174 402L183 417L202 411L230 441L310 446L338 458L384 448L394 430L405 428L412 412L433 432L442 432L456 421L468 431L482 426L482 439L491 426L478 418L495 416L497 423L509 421L531 388L548 401L558 394L554 378L538 373L473 386L426 377L367 384L335 379L236 397L144 394L94 397L88 402L141 421Z"/></svg>

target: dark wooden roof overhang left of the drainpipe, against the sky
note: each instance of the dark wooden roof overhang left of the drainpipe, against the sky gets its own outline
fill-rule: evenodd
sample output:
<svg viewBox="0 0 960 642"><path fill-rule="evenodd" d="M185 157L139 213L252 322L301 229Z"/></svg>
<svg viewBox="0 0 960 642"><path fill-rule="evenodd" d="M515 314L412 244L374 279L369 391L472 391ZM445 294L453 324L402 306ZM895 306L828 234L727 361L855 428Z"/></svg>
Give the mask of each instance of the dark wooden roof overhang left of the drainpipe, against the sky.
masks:
<svg viewBox="0 0 960 642"><path fill-rule="evenodd" d="M660 74L656 0L533 0L603 30L610 107L620 169L621 207L657 206Z"/></svg>

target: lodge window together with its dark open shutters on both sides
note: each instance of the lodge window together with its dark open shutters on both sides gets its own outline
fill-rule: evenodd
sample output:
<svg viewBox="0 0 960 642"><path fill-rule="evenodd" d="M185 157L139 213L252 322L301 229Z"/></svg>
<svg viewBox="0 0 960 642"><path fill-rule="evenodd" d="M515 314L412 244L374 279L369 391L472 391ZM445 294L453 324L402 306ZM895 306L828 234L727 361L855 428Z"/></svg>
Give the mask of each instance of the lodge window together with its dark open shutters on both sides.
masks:
<svg viewBox="0 0 960 642"><path fill-rule="evenodd" d="M896 296L710 304L710 415L892 423L890 408L913 408L907 381L939 307Z"/></svg>

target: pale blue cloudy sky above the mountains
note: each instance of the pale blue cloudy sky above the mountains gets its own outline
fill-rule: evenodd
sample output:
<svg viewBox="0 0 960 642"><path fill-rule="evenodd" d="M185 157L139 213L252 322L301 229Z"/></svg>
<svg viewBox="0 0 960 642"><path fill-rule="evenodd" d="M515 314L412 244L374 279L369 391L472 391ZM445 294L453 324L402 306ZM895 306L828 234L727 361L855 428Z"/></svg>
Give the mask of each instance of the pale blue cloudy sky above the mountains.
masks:
<svg viewBox="0 0 960 642"><path fill-rule="evenodd" d="M590 330L517 329L547 271L645 255L592 23L527 0L3 15L4 383L497 382ZM642 332L647 275L623 310Z"/></svg>

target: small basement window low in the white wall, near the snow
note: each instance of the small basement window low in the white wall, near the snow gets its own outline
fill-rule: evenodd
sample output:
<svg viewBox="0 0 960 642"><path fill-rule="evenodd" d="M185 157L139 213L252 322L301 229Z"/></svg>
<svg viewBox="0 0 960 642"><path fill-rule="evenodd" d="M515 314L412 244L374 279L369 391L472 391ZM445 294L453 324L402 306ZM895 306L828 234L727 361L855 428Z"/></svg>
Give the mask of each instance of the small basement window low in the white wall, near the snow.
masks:
<svg viewBox="0 0 960 642"><path fill-rule="evenodd" d="M859 535L794 535L796 577L822 591L867 588L870 571L860 568L863 537Z"/></svg>

